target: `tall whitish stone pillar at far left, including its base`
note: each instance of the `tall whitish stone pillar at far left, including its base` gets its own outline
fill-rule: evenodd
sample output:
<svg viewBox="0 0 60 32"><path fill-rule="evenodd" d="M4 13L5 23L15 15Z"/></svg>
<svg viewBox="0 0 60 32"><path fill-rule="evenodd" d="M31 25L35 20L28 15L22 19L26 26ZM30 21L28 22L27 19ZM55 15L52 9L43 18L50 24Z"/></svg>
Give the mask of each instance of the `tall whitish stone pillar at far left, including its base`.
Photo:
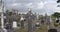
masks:
<svg viewBox="0 0 60 32"><path fill-rule="evenodd" d="M3 0L0 0L0 12L1 12L1 28L2 31L4 31L5 28L4 28L4 1Z"/></svg>

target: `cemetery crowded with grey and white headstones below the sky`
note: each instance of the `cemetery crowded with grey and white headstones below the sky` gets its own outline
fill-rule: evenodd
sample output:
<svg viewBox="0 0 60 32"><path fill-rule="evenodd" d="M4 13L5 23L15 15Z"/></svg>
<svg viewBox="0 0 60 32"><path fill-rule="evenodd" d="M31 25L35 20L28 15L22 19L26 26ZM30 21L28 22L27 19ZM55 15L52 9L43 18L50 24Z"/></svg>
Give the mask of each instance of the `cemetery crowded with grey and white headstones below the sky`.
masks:
<svg viewBox="0 0 60 32"><path fill-rule="evenodd" d="M50 16L32 13L31 8L25 14L15 9L4 12L4 2L0 4L0 32L60 32L58 12Z"/></svg>

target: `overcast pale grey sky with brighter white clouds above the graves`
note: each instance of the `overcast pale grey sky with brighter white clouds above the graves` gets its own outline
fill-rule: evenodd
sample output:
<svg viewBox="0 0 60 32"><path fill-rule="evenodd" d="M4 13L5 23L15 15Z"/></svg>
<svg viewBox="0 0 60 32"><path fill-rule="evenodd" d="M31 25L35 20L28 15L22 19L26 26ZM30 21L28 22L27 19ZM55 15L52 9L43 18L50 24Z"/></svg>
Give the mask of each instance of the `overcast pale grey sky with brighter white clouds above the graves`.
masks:
<svg viewBox="0 0 60 32"><path fill-rule="evenodd" d="M33 13L53 14L54 12L60 12L60 8L57 7L57 0L5 0L6 9L18 9L19 12L27 12L28 8L32 9Z"/></svg>

